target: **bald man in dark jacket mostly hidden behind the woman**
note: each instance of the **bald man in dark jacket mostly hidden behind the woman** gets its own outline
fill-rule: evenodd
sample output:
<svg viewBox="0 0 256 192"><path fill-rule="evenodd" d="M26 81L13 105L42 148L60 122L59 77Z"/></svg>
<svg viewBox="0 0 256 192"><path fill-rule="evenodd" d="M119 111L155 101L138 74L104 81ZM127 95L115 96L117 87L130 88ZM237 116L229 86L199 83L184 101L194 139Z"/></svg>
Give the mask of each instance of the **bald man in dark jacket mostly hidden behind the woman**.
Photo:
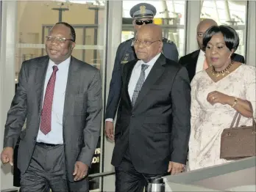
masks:
<svg viewBox="0 0 256 192"><path fill-rule="evenodd" d="M198 73L201 70L205 70L208 67L205 61L205 48L202 43L202 40L207 29L209 29L211 26L217 25L218 24L216 23L216 21L213 21L212 19L205 19L201 21L196 29L196 39L199 45L199 50L193 51L192 53L182 56L179 59L179 64L182 64L187 68L190 81L192 81L193 76L196 75L196 73ZM235 62L244 63L243 56L236 53L232 54L231 59Z"/></svg>

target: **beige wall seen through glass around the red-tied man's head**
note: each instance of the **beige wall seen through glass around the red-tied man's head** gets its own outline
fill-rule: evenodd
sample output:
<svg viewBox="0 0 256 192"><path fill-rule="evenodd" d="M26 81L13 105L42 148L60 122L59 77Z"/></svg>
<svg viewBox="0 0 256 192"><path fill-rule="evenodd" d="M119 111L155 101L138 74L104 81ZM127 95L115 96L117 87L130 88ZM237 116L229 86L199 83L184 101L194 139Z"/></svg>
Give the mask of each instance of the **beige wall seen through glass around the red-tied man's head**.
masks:
<svg viewBox="0 0 256 192"><path fill-rule="evenodd" d="M51 10L52 8L60 7L60 2L56 1L18 1L18 27L16 32L17 43L25 44L42 44L42 29L43 25L53 25L59 21L59 12ZM71 25L87 25L94 24L95 10L89 10L89 7L96 7L91 4L70 4L64 3L63 7L68 7L69 10L63 12L63 20ZM98 45L103 45L104 40L104 6L99 10L99 32ZM101 27L103 26L103 27ZM82 32L83 29L75 29L77 33L77 45L83 45ZM45 30L45 36L48 29ZM85 34L86 45L94 45L94 29L86 29ZM16 74L21 67L21 62L26 59L31 59L36 56L41 56L41 48L18 48L16 51ZM43 52L45 54L45 51ZM93 50L85 50L85 59L82 58L82 50L75 49L73 55L77 59L84 60L93 64ZM97 61L102 61L102 51L97 51ZM99 62L98 62L99 63ZM99 65L97 65L99 67Z"/></svg>

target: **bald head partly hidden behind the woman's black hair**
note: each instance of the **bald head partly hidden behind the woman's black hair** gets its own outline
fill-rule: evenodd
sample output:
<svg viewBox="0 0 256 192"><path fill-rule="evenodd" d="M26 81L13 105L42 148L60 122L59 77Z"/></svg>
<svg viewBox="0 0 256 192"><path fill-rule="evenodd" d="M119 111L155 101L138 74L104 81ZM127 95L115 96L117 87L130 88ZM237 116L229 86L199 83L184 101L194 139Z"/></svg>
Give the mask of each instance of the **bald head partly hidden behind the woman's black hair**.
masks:
<svg viewBox="0 0 256 192"><path fill-rule="evenodd" d="M202 45L204 34L207 31L207 29L209 29L211 26L218 26L218 24L216 23L216 21L210 18L204 19L197 26L196 37L197 37L197 43L201 50L205 49L204 46Z"/></svg>

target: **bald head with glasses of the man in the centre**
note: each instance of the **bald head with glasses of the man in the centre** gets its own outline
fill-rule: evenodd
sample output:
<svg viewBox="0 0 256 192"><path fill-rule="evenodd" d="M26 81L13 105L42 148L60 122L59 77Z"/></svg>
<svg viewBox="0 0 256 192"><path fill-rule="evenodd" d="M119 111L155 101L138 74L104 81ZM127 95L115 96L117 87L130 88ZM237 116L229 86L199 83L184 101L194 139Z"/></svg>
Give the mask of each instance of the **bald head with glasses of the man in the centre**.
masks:
<svg viewBox="0 0 256 192"><path fill-rule="evenodd" d="M135 37L134 48L138 59L146 63L151 61L163 48L161 27L153 23L141 26Z"/></svg>

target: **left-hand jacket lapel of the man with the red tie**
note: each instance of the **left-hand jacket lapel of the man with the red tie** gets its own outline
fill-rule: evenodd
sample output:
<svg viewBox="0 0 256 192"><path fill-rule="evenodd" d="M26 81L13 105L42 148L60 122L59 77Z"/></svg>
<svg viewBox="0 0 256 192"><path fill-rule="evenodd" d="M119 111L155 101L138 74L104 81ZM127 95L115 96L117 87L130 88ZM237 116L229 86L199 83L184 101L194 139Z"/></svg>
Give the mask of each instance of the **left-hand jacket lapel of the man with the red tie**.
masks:
<svg viewBox="0 0 256 192"><path fill-rule="evenodd" d="M35 92L38 98L38 112L40 114L43 104L43 90L46 79L46 72L49 65L49 56L45 56L37 64L35 69Z"/></svg>

